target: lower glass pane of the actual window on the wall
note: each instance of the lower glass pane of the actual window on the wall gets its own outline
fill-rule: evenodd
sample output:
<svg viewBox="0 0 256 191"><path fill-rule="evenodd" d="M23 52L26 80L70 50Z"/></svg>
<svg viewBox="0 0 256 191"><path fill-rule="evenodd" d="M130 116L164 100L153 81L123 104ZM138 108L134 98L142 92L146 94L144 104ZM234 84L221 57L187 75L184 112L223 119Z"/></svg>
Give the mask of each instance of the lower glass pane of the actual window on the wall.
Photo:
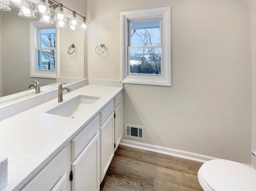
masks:
<svg viewBox="0 0 256 191"><path fill-rule="evenodd" d="M130 73L161 75L161 48L131 48Z"/></svg>

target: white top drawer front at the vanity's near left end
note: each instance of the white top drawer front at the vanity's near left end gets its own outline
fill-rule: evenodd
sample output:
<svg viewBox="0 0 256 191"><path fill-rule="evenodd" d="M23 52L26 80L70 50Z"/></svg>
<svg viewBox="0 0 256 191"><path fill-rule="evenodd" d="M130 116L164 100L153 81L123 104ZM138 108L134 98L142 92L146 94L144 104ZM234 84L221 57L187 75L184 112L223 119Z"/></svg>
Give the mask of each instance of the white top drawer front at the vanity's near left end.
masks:
<svg viewBox="0 0 256 191"><path fill-rule="evenodd" d="M66 148L62 149L22 191L51 190L66 172Z"/></svg>

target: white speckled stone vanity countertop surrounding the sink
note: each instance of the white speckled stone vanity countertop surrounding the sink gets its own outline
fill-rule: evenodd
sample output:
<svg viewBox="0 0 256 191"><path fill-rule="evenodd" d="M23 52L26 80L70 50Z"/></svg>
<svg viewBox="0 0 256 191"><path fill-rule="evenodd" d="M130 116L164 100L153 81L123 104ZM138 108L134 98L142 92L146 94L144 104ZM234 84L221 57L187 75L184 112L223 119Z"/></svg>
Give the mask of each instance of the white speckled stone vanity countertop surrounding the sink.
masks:
<svg viewBox="0 0 256 191"><path fill-rule="evenodd" d="M0 121L0 156L8 158L8 185L1 191L20 190L70 142L122 88L86 85L63 95L101 97L76 118L45 112L64 103L58 98Z"/></svg>

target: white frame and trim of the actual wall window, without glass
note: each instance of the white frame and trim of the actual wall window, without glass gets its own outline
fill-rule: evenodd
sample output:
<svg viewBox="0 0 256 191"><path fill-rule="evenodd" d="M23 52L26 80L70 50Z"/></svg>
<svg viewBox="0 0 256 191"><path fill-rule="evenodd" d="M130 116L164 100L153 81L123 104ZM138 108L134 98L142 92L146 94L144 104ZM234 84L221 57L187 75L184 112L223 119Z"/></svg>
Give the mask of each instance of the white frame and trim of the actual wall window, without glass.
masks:
<svg viewBox="0 0 256 191"><path fill-rule="evenodd" d="M162 23L162 26L160 26L162 32L161 75L130 74L129 24L130 22L143 20L161 20L160 23ZM171 8L163 7L121 12L120 21L122 83L171 86Z"/></svg>

